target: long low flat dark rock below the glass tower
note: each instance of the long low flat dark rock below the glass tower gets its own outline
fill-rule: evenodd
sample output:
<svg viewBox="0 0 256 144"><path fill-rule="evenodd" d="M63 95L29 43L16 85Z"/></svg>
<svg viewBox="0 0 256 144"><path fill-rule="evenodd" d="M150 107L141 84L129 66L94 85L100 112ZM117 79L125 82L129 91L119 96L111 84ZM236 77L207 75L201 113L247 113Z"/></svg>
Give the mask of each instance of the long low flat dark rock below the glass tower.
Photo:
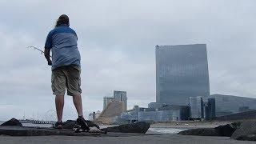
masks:
<svg viewBox="0 0 256 144"><path fill-rule="evenodd" d="M190 129L183 130L178 134L182 135L199 135L199 136L219 136L218 130L214 128L200 128L200 129Z"/></svg>

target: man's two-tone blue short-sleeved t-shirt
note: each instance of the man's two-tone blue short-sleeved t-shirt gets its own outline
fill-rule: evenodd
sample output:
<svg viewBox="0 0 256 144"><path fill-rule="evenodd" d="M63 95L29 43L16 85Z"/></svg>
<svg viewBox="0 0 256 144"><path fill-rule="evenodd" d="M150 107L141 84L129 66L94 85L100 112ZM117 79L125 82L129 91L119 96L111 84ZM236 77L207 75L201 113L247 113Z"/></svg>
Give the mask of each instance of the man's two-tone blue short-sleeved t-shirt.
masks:
<svg viewBox="0 0 256 144"><path fill-rule="evenodd" d="M46 38L45 48L52 50L52 70L60 66L80 66L78 36L68 25L51 30Z"/></svg>

